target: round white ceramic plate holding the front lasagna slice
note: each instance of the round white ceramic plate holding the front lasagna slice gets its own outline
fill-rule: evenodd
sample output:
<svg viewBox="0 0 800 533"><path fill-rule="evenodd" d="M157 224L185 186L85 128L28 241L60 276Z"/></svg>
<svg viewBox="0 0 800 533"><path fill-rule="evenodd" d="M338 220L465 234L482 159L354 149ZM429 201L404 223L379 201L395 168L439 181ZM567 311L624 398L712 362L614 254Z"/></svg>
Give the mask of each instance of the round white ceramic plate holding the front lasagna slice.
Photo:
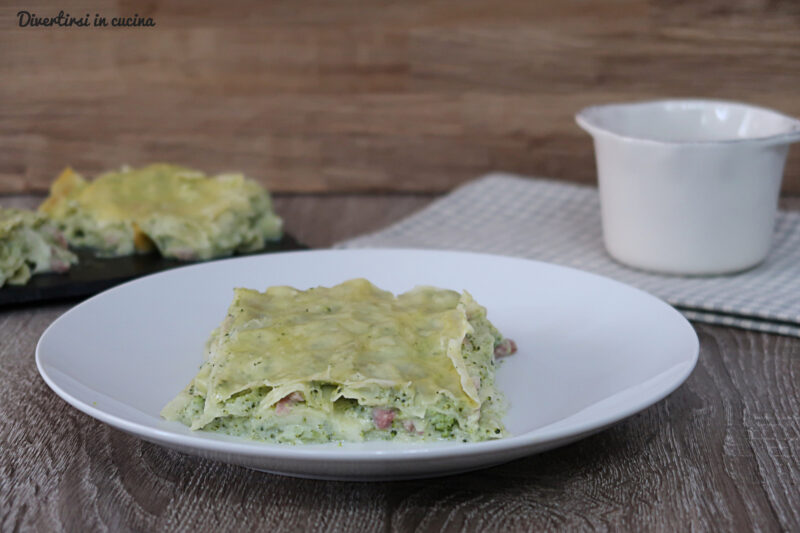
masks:
<svg viewBox="0 0 800 533"><path fill-rule="evenodd" d="M498 371L512 437L480 443L289 446L166 422L236 286L308 288L365 277L402 292L467 289L519 352ZM244 257L154 274L56 320L36 347L47 384L77 409L186 453L292 476L404 479L483 468L599 431L675 390L698 355L677 311L637 289L564 267L423 250L327 250Z"/></svg>

